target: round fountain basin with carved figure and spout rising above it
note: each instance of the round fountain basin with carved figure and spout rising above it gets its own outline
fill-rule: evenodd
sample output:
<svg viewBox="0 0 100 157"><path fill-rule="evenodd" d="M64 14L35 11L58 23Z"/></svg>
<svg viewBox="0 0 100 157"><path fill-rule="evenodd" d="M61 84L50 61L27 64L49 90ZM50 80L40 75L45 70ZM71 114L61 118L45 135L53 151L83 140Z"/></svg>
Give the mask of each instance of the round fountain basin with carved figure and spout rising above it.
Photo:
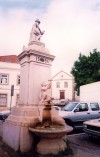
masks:
<svg viewBox="0 0 100 157"><path fill-rule="evenodd" d="M40 105L44 106L42 121L29 127L29 130L40 137L37 144L37 152L42 155L58 154L67 148L64 136L71 132L73 128L66 125L65 121L59 117L57 111L52 109L52 98L47 95L47 89L51 87L50 82L42 84L42 97Z"/></svg>

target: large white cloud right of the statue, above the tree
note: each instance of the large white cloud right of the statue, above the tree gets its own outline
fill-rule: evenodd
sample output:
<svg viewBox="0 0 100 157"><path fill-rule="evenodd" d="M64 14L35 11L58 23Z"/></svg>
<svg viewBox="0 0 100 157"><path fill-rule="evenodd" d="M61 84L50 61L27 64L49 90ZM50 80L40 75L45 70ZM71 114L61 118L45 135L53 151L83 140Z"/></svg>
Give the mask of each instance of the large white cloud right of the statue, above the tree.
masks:
<svg viewBox="0 0 100 157"><path fill-rule="evenodd" d="M56 0L49 7L45 42L57 56L53 63L57 70L70 72L80 52L87 55L94 48L100 49L100 13L94 9L96 2Z"/></svg>

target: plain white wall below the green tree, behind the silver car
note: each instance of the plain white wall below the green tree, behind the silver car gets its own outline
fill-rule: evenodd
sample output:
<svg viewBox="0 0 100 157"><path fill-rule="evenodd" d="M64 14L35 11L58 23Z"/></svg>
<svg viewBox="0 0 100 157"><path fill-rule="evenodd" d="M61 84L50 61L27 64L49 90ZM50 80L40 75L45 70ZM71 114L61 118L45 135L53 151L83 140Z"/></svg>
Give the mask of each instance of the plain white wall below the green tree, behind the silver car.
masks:
<svg viewBox="0 0 100 157"><path fill-rule="evenodd" d="M100 102L100 81L81 86L80 101Z"/></svg>

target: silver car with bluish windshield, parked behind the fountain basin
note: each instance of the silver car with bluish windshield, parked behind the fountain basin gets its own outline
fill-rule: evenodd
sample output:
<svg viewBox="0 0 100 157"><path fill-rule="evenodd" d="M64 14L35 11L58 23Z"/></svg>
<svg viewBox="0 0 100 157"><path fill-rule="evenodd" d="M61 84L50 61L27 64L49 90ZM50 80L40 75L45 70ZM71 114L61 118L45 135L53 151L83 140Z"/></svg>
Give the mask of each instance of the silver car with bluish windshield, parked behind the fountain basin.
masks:
<svg viewBox="0 0 100 157"><path fill-rule="evenodd" d="M71 102L63 110L59 110L59 115L73 129L82 129L84 121L100 117L100 104L98 102Z"/></svg>

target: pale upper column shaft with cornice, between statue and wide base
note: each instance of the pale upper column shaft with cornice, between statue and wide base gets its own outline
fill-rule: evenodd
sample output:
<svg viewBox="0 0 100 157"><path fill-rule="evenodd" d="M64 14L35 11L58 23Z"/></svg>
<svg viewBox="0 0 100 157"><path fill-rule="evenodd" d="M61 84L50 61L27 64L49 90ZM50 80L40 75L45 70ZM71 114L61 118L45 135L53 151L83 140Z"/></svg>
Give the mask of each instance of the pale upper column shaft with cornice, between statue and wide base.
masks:
<svg viewBox="0 0 100 157"><path fill-rule="evenodd" d="M19 55L21 65L20 104L30 105L39 102L40 86L51 78L50 55L45 44L39 41L29 43L28 48Z"/></svg>

